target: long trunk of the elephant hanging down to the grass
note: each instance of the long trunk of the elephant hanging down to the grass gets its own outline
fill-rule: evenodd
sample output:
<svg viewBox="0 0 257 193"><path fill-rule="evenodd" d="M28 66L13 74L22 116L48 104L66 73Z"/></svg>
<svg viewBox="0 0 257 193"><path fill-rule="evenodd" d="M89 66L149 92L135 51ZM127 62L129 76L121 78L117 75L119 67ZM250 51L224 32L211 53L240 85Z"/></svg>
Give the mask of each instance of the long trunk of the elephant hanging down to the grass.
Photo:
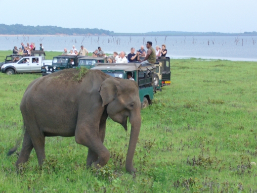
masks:
<svg viewBox="0 0 257 193"><path fill-rule="evenodd" d="M135 152L136 143L138 140L140 127L141 127L141 115L140 110L139 114L129 116L129 122L131 124L131 132L130 132L130 138L129 138L129 149L128 154L126 158L126 170L129 173L135 172L135 169L133 167L133 156Z"/></svg>

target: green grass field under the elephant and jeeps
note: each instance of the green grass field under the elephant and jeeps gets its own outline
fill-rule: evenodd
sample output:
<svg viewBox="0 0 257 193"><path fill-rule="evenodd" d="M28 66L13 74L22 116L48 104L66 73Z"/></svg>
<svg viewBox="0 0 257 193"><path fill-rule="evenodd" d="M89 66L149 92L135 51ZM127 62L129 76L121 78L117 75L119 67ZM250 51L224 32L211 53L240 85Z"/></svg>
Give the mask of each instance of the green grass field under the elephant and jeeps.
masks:
<svg viewBox="0 0 257 193"><path fill-rule="evenodd" d="M17 170L21 147L6 153L22 133L23 93L41 75L0 73L0 192L256 193L257 62L171 60L171 69L171 86L141 111L134 175L125 170L130 131L111 119L105 167L86 169L85 146L53 137L46 138L43 167L33 150Z"/></svg>

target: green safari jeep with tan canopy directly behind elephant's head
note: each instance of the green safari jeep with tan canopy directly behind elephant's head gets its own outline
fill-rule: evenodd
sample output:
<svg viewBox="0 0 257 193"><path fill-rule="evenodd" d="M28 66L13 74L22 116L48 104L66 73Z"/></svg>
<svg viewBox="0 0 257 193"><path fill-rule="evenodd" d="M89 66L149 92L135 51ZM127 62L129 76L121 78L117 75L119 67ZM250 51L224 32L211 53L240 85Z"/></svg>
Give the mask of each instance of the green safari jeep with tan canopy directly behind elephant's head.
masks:
<svg viewBox="0 0 257 193"><path fill-rule="evenodd" d="M101 70L112 76L127 79L127 73L132 73L132 78L136 81L139 89L141 108L152 104L154 98L153 70L154 65L142 65L140 63L96 63L91 70Z"/></svg>

